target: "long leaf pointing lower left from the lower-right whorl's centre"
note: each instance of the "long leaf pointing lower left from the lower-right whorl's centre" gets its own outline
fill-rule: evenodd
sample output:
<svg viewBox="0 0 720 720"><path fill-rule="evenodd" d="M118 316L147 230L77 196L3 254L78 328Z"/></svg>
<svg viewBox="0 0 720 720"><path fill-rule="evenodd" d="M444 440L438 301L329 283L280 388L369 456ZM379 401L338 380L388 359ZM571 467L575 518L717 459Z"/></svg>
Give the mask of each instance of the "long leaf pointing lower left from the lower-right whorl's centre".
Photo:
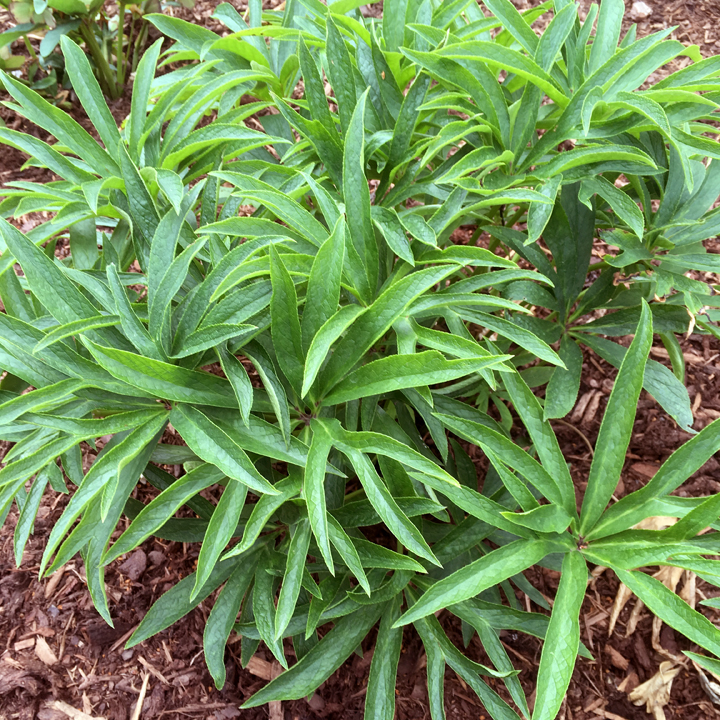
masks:
<svg viewBox="0 0 720 720"><path fill-rule="evenodd" d="M540 562L550 552L552 544L544 540L516 540L493 550L436 582L395 625L407 625L449 605L475 597Z"/></svg>

